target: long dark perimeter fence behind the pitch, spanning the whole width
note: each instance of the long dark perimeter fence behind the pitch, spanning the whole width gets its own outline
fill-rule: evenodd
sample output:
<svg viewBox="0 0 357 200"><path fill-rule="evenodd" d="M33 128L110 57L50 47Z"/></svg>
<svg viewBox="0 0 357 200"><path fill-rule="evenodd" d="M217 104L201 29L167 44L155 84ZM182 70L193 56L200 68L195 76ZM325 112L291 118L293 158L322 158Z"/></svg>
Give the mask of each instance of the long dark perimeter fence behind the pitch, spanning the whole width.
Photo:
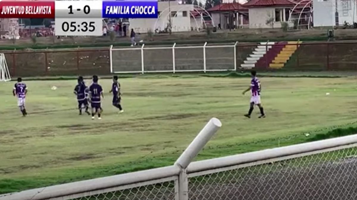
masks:
<svg viewBox="0 0 357 200"><path fill-rule="evenodd" d="M274 48L259 56L262 47L284 46L285 52ZM289 50L289 47L296 49ZM263 49L263 50L264 50ZM289 51L292 51L291 55ZM108 75L110 73L146 72L214 72L235 70L357 70L356 42L315 43L225 43L202 45L139 46L59 51L5 51L12 77L60 75ZM255 53L258 53L255 54ZM287 60L276 59L290 57ZM257 59L255 59L257 58ZM281 61L281 62L280 62ZM271 67L274 63L282 67ZM242 67L249 64L250 67Z"/></svg>

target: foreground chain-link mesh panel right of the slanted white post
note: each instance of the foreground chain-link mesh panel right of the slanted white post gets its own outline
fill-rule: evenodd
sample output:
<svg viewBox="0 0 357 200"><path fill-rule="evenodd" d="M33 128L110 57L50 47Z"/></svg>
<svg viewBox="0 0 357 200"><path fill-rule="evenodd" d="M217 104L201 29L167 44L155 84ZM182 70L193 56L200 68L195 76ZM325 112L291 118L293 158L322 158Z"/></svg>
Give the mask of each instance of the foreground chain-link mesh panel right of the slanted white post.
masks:
<svg viewBox="0 0 357 200"><path fill-rule="evenodd" d="M356 145L216 171L189 175L190 199L357 198Z"/></svg>

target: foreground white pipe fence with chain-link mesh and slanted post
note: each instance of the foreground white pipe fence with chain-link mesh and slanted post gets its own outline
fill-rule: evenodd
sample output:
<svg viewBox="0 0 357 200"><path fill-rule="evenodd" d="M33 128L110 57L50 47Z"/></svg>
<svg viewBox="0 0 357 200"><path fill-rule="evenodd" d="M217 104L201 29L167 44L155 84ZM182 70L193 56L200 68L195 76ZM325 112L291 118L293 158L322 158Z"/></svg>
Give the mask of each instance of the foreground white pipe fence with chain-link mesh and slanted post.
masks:
<svg viewBox="0 0 357 200"><path fill-rule="evenodd" d="M211 119L169 167L0 199L357 199L357 135L191 163L220 127Z"/></svg>

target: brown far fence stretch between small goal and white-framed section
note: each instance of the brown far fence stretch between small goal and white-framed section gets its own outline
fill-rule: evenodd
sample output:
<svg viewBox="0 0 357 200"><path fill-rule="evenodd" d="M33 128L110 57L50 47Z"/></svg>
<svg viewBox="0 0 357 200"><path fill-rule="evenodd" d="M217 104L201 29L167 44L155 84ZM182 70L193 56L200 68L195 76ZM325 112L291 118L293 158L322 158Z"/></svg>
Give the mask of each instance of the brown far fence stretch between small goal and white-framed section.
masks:
<svg viewBox="0 0 357 200"><path fill-rule="evenodd" d="M109 74L107 49L4 52L12 77Z"/></svg>

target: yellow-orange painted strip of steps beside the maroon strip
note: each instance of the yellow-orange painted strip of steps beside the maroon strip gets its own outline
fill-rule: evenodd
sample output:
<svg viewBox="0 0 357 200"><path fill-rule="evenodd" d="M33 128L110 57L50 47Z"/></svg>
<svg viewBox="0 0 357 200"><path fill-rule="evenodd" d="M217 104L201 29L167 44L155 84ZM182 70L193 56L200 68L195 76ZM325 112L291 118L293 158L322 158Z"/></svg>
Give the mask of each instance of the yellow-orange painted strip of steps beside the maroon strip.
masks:
<svg viewBox="0 0 357 200"><path fill-rule="evenodd" d="M294 45L295 44L295 45ZM285 47L283 47L280 53L277 54L274 60L269 64L270 68L273 69L280 69L284 67L287 61L290 59L293 53L295 53L296 49L298 48L298 44L301 44L300 41L291 41L288 42Z"/></svg>

